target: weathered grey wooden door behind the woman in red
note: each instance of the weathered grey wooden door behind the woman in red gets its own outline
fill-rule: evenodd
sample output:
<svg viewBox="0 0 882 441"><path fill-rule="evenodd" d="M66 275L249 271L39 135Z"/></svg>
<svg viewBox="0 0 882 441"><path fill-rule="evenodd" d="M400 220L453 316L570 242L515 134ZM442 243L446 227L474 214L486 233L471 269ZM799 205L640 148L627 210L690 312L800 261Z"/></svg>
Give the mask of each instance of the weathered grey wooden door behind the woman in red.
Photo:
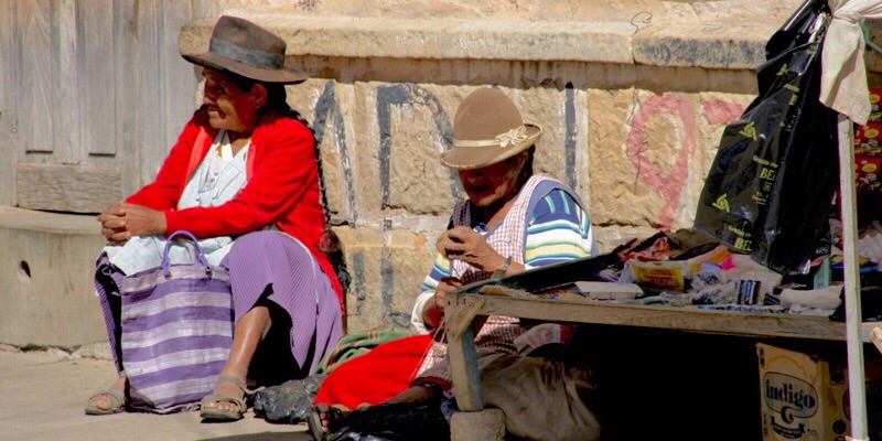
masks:
<svg viewBox="0 0 882 441"><path fill-rule="evenodd" d="M0 1L0 205L99 213L153 179L196 105L178 35L212 1Z"/></svg>

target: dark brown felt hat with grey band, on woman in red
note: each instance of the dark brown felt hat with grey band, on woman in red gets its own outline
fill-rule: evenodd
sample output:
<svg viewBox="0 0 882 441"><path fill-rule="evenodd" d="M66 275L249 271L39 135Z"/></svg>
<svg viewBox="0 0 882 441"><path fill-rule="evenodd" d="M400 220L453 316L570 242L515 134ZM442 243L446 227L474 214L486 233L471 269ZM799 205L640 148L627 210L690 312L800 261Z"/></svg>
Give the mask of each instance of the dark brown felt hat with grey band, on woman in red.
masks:
<svg viewBox="0 0 882 441"><path fill-rule="evenodd" d="M293 84L309 78L284 66L284 40L238 17L222 15L212 31L208 52L181 54L184 60L263 83Z"/></svg>

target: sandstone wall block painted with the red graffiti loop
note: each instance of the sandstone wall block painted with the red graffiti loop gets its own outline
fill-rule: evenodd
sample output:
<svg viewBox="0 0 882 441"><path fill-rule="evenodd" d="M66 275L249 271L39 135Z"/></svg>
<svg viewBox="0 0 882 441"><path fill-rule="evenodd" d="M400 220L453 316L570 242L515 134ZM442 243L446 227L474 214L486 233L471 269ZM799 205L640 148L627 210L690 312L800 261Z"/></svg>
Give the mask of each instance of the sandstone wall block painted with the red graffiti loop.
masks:
<svg viewBox="0 0 882 441"><path fill-rule="evenodd" d="M595 225L691 226L719 133L751 98L590 90Z"/></svg>

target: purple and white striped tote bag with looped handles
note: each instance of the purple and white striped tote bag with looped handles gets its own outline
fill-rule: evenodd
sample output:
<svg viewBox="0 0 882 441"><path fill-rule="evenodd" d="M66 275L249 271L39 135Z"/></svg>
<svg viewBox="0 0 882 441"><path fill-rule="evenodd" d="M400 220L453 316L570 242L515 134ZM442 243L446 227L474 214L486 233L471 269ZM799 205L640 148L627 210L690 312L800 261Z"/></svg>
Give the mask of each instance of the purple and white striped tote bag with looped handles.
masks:
<svg viewBox="0 0 882 441"><path fill-rule="evenodd" d="M169 248L179 235L193 241L194 263L170 265ZM229 356L229 273L208 265L192 234L176 232L165 243L162 263L127 276L120 291L130 407L155 413L195 410Z"/></svg>

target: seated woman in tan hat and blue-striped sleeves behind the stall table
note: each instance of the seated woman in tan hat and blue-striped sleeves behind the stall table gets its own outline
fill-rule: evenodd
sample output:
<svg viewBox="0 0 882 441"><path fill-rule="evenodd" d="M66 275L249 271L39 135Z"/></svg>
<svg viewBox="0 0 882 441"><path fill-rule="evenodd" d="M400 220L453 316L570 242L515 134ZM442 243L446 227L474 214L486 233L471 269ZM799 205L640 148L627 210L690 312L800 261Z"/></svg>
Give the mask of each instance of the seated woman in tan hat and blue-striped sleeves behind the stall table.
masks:
<svg viewBox="0 0 882 441"><path fill-rule="evenodd" d="M441 155L441 163L459 172L469 197L454 206L448 230L437 241L438 255L411 316L415 330L432 335L434 343L413 359L411 367L394 369L411 377L398 383L405 385L401 389L384 391L390 396L387 405L440 402L451 396L455 385L451 384L443 338L447 292L493 276L596 255L591 223L576 192L533 171L535 144L541 133L541 127L524 122L512 99L498 89L478 88L458 108L453 148ZM484 404L503 410L510 433L536 440L599 437L599 422L581 400L593 387L587 370L525 356L546 343L567 338L567 327L530 326L508 316L490 316L475 335L477 363L485 377ZM386 353L389 351L381 348L395 344L374 351ZM369 434L370 427L359 429L356 421L366 421L367 426L369 421L387 422L388 418L369 412L400 411L395 407L368 407L352 413L353 418L333 421L348 409L364 407L361 397L367 396L364 389L370 389L364 378L369 378L372 372L385 376L384 384L392 383L388 378L392 369L370 355L344 363L325 379L309 421L314 438L322 438L329 429L331 434L325 438L333 440L346 439L343 432L347 430L364 429L362 433ZM361 391L345 380L356 375L364 385ZM443 438L441 433L418 433L431 426L432 420L427 421L410 424L415 433L398 434L402 439ZM402 423L398 429L407 427Z"/></svg>

